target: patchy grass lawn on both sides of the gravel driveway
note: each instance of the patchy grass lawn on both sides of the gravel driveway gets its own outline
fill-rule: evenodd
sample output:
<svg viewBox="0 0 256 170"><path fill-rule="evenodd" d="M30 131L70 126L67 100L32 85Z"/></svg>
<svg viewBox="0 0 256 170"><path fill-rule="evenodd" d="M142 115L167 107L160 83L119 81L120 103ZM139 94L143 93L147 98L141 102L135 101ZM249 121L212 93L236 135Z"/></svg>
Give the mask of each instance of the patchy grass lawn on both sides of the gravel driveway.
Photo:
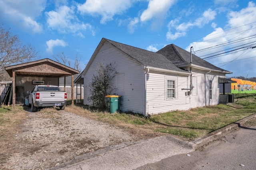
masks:
<svg viewBox="0 0 256 170"><path fill-rule="evenodd" d="M68 103L70 104L71 101ZM22 113L23 107L18 106L17 109ZM50 112L52 109L48 109L48 111ZM256 94L234 94L234 103L232 104L198 107L187 111L171 111L151 115L151 117L144 117L136 113L108 113L90 109L81 104L68 105L65 111L109 123L130 131L130 133L148 135L148 137L172 134L186 141L194 141L212 131L256 113ZM19 111L13 113L11 107L9 109L0 107L0 127L8 123L15 123L13 119L17 114ZM24 114L21 117L24 117ZM1 133L0 131L0 137Z"/></svg>

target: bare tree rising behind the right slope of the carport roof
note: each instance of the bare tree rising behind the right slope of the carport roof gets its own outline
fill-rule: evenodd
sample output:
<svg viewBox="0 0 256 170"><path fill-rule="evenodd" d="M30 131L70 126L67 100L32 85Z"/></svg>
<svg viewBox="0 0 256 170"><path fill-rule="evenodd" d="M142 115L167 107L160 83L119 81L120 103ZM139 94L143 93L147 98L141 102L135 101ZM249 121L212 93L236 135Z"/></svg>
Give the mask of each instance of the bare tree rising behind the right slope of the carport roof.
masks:
<svg viewBox="0 0 256 170"><path fill-rule="evenodd" d="M80 68L80 61L81 61L81 57L78 59L78 54L76 54L76 59L74 62L74 66L71 66L71 61L70 59L68 59L68 57L62 52L62 53L58 53L57 55L54 56L54 59L61 64L64 64L66 66L69 66L70 68L74 68L78 71L81 71Z"/></svg>

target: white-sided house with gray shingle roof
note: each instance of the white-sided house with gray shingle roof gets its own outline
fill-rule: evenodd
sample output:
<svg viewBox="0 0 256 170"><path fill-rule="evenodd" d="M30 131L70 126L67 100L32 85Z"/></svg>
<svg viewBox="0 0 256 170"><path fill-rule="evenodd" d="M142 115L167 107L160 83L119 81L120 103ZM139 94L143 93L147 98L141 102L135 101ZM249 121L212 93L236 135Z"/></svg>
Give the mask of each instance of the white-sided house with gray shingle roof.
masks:
<svg viewBox="0 0 256 170"><path fill-rule="evenodd" d="M174 44L154 53L103 38L81 75L85 105L98 63L115 63L120 110L145 116L219 104L219 82L232 73Z"/></svg>

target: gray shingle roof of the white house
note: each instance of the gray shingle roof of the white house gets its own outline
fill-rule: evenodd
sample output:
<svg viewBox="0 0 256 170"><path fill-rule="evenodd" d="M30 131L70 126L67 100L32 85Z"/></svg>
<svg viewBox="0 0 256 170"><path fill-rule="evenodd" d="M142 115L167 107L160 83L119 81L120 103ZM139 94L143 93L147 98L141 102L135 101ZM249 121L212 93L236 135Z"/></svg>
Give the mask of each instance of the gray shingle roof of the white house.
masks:
<svg viewBox="0 0 256 170"><path fill-rule="evenodd" d="M188 72L186 70L183 70L182 68L178 68L178 66L190 63L190 52L174 44L167 45L166 47L154 53L137 47L132 47L130 45L118 43L109 39L103 39L111 43L116 48L120 49L139 63L143 64L144 66L152 66L155 68ZM208 63L207 61L197 57L196 55L192 55L192 64L204 66L206 68L214 70L226 71L222 68L214 66L211 63Z"/></svg>

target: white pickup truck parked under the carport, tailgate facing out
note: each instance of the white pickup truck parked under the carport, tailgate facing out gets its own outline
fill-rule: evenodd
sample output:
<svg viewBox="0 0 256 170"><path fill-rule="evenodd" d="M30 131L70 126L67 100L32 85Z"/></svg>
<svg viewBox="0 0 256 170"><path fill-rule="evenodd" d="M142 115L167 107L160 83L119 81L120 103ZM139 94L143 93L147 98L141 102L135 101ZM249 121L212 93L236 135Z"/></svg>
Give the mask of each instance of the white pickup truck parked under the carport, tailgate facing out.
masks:
<svg viewBox="0 0 256 170"><path fill-rule="evenodd" d="M58 86L50 85L38 85L30 92L27 92L28 104L32 108L32 112L35 112L38 107L60 107L64 110L67 103L67 93L60 91Z"/></svg>

